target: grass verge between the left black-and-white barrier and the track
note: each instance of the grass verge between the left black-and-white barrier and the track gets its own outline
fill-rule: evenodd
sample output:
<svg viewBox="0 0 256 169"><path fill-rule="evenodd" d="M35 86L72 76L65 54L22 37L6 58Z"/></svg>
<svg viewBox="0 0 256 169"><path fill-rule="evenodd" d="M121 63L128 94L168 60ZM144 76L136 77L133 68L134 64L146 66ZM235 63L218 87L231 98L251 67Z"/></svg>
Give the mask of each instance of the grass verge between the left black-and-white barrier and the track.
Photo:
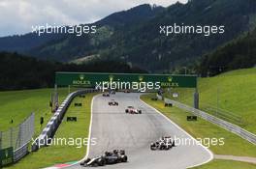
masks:
<svg viewBox="0 0 256 169"><path fill-rule="evenodd" d="M90 124L91 99L96 94L87 94L85 99L76 98L68 108L63 122L59 126L54 138L87 138ZM81 102L82 107L75 107L74 102ZM67 122L67 117L77 117L78 122ZM80 141L77 145L80 145ZM86 153L86 145L77 146L52 145L44 147L38 152L31 153L22 158L16 165L10 166L10 169L26 168L35 169L48 167L57 163L76 161L82 158Z"/></svg>

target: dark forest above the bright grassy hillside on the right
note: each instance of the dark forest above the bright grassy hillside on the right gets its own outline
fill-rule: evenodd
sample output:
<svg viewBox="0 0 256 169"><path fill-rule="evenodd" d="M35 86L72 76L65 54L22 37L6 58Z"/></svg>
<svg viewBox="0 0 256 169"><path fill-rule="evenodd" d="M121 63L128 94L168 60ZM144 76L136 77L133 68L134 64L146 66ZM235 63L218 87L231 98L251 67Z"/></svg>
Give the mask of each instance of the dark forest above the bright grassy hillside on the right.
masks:
<svg viewBox="0 0 256 169"><path fill-rule="evenodd" d="M202 76L213 76L228 70L256 66L256 29L204 55L197 71Z"/></svg>

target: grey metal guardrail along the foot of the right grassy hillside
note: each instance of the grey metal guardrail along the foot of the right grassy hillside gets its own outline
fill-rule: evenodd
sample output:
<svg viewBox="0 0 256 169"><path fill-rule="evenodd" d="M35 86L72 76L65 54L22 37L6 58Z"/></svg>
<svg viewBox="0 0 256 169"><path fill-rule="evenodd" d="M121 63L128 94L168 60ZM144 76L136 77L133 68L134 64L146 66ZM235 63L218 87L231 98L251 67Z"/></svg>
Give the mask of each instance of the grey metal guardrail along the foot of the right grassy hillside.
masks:
<svg viewBox="0 0 256 169"><path fill-rule="evenodd" d="M199 116L201 117L202 119L205 119L207 120L208 122L212 123L212 124L215 124L219 127L223 127L224 129L226 130L229 130L237 135L239 135L241 138L251 142L252 144L256 145L256 135L241 128L241 127L238 127L234 124L231 124L227 121L224 121L222 119L219 119L215 116L212 116L202 110L199 110L199 109L195 109L191 106L188 106L186 104L183 104L183 103L180 103L176 100L173 100L173 99L164 99L164 101L166 103L173 103L174 105L176 105L176 107L178 108L181 108L181 109L184 109L186 111L189 111L191 112L192 114L196 115L196 116Z"/></svg>

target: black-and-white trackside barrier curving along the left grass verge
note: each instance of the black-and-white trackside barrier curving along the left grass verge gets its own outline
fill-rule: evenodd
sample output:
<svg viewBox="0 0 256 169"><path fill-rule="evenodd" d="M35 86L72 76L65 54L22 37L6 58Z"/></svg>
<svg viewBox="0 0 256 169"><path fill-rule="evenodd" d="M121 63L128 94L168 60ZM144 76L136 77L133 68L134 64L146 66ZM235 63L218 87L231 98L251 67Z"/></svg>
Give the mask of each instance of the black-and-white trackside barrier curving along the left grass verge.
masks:
<svg viewBox="0 0 256 169"><path fill-rule="evenodd" d="M84 94L88 93L93 93L96 92L97 90L95 89L84 89L84 90L79 90L76 92L71 93L58 107L57 111L54 113L54 115L50 118L48 121L47 127L44 128L42 133L39 135L37 138L36 142L32 145L32 151L37 151L43 146L48 145L48 141L50 138L53 138L57 128L61 124L61 121L66 113L66 110L68 106L70 105L71 101Z"/></svg>

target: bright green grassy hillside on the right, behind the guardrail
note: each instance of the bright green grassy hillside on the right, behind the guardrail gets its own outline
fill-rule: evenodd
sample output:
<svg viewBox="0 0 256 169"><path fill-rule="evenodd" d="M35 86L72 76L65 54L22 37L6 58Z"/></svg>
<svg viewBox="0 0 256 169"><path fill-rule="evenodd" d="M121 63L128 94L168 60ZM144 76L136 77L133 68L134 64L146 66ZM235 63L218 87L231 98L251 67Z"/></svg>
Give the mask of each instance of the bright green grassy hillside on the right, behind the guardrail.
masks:
<svg viewBox="0 0 256 169"><path fill-rule="evenodd" d="M256 133L256 69L234 70L215 77L199 79L200 108L220 118L236 117L232 123ZM172 98L178 93L178 101L192 105L192 89L173 89L165 95ZM219 113L216 113L216 109ZM228 120L228 119L225 119Z"/></svg>

